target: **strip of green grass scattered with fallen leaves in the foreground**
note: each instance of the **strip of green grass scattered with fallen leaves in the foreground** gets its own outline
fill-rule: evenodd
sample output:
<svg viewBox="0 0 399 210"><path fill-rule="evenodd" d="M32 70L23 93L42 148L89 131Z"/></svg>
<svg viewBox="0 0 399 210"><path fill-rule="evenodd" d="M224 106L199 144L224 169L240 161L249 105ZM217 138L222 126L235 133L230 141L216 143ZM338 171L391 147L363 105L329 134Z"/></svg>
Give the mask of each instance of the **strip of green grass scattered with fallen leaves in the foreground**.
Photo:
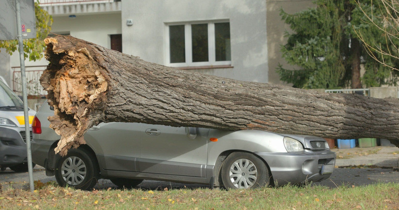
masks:
<svg viewBox="0 0 399 210"><path fill-rule="evenodd" d="M399 184L254 190L93 190L47 185L0 193L5 209L398 209Z"/></svg>

